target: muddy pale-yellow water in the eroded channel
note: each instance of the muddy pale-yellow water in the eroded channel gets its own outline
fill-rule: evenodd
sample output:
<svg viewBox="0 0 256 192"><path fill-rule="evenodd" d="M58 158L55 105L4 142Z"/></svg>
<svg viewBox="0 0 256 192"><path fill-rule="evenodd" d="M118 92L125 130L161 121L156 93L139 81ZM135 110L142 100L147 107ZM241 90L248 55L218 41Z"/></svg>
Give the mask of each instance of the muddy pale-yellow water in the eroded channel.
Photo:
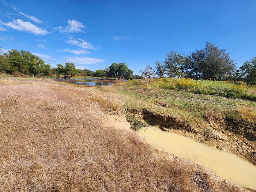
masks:
<svg viewBox="0 0 256 192"><path fill-rule="evenodd" d="M160 151L189 159L242 187L256 189L256 166L234 154L153 126L140 129L138 134Z"/></svg>

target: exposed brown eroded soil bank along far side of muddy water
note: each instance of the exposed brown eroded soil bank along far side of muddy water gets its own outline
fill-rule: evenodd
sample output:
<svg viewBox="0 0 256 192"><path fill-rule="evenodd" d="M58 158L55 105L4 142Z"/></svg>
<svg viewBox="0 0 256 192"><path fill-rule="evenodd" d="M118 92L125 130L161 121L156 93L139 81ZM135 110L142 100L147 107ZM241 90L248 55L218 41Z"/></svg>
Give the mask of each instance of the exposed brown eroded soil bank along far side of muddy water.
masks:
<svg viewBox="0 0 256 192"><path fill-rule="evenodd" d="M150 125L158 125L166 131L192 138L198 142L204 143L210 147L218 148L223 151L229 151L239 157L251 162L256 166L256 141L252 131L245 129L234 129L233 132L225 126L211 126L214 132L202 131L202 129L193 127L187 120L177 120L172 116L165 116L151 112L147 109L129 110L129 112L138 114Z"/></svg>

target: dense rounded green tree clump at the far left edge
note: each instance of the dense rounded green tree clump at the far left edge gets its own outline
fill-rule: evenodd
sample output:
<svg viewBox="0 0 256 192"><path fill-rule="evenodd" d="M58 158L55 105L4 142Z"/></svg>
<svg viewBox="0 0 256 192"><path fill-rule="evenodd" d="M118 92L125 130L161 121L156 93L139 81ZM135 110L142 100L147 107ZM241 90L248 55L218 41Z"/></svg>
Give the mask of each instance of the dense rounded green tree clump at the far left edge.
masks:
<svg viewBox="0 0 256 192"><path fill-rule="evenodd" d="M12 49L0 55L0 72L11 74L19 71L26 75L36 76L49 75L50 70L50 64L45 64L44 60L28 51L21 50L19 52Z"/></svg>

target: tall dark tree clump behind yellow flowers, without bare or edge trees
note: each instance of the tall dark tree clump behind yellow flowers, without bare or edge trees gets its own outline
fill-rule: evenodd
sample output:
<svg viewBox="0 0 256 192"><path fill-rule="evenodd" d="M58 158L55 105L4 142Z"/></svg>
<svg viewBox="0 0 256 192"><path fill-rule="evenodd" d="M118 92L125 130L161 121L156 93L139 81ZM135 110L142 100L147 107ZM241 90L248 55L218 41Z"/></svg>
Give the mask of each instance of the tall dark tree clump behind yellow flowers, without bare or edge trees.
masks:
<svg viewBox="0 0 256 192"><path fill-rule="evenodd" d="M204 49L195 50L190 54L171 51L166 53L163 64L156 63L155 75L162 78L185 77L193 79L222 80L223 76L234 72L236 64L230 59L226 49L207 42Z"/></svg>

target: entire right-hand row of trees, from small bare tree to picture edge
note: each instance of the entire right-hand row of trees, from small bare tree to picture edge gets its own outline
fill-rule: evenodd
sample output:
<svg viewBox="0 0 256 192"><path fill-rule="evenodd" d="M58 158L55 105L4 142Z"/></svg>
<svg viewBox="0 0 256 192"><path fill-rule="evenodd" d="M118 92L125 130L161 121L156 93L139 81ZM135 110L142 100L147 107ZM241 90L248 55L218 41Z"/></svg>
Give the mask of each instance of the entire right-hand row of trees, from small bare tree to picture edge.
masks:
<svg viewBox="0 0 256 192"><path fill-rule="evenodd" d="M219 49L207 42L204 49L190 54L178 52L166 53L163 63L156 61L155 70L149 65L141 74L156 75L159 78L192 78L196 80L234 80L245 81L246 84L256 84L256 57L246 61L238 70L236 63L230 59L226 49ZM151 68L150 68L151 67Z"/></svg>

